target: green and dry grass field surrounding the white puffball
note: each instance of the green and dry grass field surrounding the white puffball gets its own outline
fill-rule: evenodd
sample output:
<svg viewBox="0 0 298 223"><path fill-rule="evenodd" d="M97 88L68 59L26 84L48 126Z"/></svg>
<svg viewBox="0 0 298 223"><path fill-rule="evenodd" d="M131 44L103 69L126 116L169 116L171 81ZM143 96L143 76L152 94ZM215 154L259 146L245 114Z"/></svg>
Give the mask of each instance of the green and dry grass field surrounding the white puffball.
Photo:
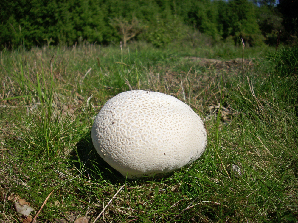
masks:
<svg viewBox="0 0 298 223"><path fill-rule="evenodd" d="M124 185L98 222L297 222L295 70L280 78L286 72L271 48L245 48L244 56L270 51L260 65L244 67L244 79L242 64L218 69L185 59L241 57L242 48L231 45L2 51L1 222L19 222L10 194L30 202L34 216L53 189L37 222L83 215L92 222ZM93 117L112 96L138 88L173 95L205 119L208 144L197 161L131 181L98 156Z"/></svg>

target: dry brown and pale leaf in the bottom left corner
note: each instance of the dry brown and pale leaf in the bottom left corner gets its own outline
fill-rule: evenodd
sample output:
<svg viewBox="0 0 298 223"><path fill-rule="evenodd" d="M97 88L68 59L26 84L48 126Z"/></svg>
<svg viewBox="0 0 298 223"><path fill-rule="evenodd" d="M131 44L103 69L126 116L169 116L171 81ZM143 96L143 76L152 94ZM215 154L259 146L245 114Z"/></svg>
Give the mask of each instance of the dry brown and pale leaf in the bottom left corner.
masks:
<svg viewBox="0 0 298 223"><path fill-rule="evenodd" d="M34 211L34 209L30 207L29 202L27 202L24 199L21 199L21 197L18 194L11 194L8 197L8 200L11 200L13 202L15 211L20 216L22 222L29 223L32 221L32 216L30 215L30 212Z"/></svg>

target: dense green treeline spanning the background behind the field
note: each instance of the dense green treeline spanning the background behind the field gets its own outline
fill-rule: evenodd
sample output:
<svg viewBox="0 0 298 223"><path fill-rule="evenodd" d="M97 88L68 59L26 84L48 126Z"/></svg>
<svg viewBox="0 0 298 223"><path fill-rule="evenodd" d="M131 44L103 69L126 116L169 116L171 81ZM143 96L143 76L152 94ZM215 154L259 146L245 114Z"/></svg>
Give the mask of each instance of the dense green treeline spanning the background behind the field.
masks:
<svg viewBox="0 0 298 223"><path fill-rule="evenodd" d="M131 39L195 45L202 35L275 45L279 30L287 43L298 33L297 0L2 0L0 8L0 49Z"/></svg>

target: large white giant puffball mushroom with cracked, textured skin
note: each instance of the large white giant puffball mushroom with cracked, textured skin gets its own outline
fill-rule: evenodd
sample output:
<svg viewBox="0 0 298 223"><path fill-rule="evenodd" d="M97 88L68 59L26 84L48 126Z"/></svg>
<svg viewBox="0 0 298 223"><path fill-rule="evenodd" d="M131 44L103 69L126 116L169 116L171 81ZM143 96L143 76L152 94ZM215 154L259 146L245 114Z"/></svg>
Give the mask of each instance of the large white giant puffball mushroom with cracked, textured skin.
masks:
<svg viewBox="0 0 298 223"><path fill-rule="evenodd" d="M198 159L207 144L204 124L188 105L142 90L108 100L91 136L99 155L129 179L179 169Z"/></svg>

